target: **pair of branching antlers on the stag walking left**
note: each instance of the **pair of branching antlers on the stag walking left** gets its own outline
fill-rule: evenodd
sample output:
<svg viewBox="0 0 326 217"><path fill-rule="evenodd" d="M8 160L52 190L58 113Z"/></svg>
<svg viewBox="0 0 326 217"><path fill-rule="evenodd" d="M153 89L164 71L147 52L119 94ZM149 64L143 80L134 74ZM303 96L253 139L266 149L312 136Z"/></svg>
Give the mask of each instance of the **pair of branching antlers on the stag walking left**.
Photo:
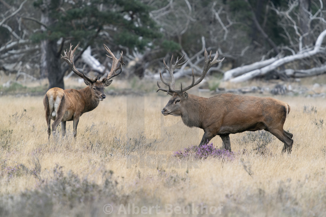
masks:
<svg viewBox="0 0 326 217"><path fill-rule="evenodd" d="M184 56L185 56L185 55L183 55L183 56L180 58L180 60L181 60ZM160 78L161 78L161 81L163 82L163 84L167 85L167 86L169 87L169 89L161 88L161 86L158 84L158 81L157 81L157 86L158 86L158 88L159 88L157 91L162 90L162 91L167 92L167 94L169 94L169 93L177 93L177 94L181 95L182 93L184 93L184 92L187 91L188 89L190 89L190 88L192 88L192 87L198 85L198 84L199 84L199 83L204 79L204 77L206 76L208 70L209 70L209 69L210 69L214 64L216 64L216 63L218 63L218 62L222 62L222 61L224 60L224 58L223 58L222 60L217 60L217 57L218 57L218 53L217 53L217 51L216 51L215 57L214 57L214 59L212 60L212 51L211 51L210 54L209 54L209 58L208 58L208 53L207 53L206 48L205 48L205 52L204 52L205 63L204 63L203 71L202 71L202 74L201 74L200 78L195 82L194 69L192 69L192 83L191 83L191 85L189 85L189 86L187 86L187 87L185 87L185 88L182 88L182 84L181 84L181 89L179 89L179 90L176 90L175 87L174 87L175 80L174 80L174 76L173 76L173 71L174 71L174 69L175 69L176 67L185 64L185 62L186 62L187 60L184 61L183 63L178 64L178 59L177 59L176 63L175 63L174 65L172 65L172 59L173 59L173 55L172 55L171 62L170 62L170 67L168 67L168 66L165 64L164 60L163 60L163 63L164 63L164 65L165 65L165 68L164 68L164 69L167 69L167 70L169 71L169 73L170 73L170 77L171 77L171 85L170 85L170 83L164 81L164 79L163 79L163 77L162 77L162 74L161 74L161 71L160 71ZM180 61L180 60L179 60L179 61ZM211 61L211 60L212 60L212 61ZM156 91L156 92L157 92L157 91Z"/></svg>

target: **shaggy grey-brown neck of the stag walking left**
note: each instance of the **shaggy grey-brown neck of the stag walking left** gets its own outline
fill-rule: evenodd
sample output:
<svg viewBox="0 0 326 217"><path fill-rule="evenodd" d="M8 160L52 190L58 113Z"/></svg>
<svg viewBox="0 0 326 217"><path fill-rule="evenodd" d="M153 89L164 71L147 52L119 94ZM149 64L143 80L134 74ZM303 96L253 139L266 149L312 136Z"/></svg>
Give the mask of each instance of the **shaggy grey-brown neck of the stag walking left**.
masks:
<svg viewBox="0 0 326 217"><path fill-rule="evenodd" d="M206 101L207 98L188 94L181 114L182 121L186 126L202 128L202 117L207 107Z"/></svg>

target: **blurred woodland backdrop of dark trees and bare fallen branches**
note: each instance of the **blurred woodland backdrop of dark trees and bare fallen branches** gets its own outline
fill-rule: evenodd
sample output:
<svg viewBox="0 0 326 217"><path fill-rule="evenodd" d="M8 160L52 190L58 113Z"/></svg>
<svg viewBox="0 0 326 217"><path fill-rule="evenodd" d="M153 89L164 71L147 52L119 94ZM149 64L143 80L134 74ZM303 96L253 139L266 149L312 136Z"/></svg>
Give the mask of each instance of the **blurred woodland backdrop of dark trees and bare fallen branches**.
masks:
<svg viewBox="0 0 326 217"><path fill-rule="evenodd" d="M326 0L0 0L0 75L48 78L64 88L61 60L104 75L103 44L123 51L124 76L156 77L163 58L189 59L175 78L201 74L204 49L225 60L223 80L291 79L324 74ZM169 60L168 60L169 61ZM162 70L163 72L163 70ZM164 76L164 74L163 74Z"/></svg>

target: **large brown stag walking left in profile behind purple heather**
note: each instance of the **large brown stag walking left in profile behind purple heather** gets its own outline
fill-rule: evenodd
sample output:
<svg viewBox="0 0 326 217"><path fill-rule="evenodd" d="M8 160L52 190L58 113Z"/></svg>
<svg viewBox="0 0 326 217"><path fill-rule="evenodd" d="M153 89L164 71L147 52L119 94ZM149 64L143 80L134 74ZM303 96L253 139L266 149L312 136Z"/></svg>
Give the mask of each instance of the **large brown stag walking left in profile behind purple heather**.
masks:
<svg viewBox="0 0 326 217"><path fill-rule="evenodd" d="M167 89L160 87L157 81L158 90L170 94L172 97L162 110L163 115L181 116L184 124L190 128L198 127L204 130L204 135L200 141L200 146L208 143L216 135L220 136L225 149L231 151L229 134L244 131L266 130L272 133L277 139L284 143L282 152L291 153L293 144L293 134L285 131L283 125L290 112L290 106L270 97L241 96L230 93L222 93L204 98L188 94L186 91L198 85L207 71L216 63L224 60L217 60L216 52L211 61L211 54L205 49L205 63L200 78L195 82L194 71L192 71L192 84L181 89L175 89L173 71L176 67L185 64L176 60L172 64L173 55L168 66L163 60L164 66L171 77L171 83L166 82L160 72L160 78ZM156 92L157 92L156 91Z"/></svg>

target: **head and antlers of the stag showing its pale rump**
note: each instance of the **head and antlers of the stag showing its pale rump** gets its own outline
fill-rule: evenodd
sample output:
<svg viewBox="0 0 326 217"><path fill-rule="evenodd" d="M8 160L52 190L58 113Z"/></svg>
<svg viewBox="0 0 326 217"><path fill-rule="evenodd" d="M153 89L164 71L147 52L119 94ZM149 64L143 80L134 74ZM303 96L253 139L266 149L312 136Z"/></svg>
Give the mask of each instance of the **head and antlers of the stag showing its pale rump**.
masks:
<svg viewBox="0 0 326 217"><path fill-rule="evenodd" d="M104 45L104 44L103 44ZM87 75L84 74L84 69L82 71L82 73L80 73L74 64L74 53L77 49L78 45L72 50L72 45L70 44L70 49L69 51L64 51L65 56L62 56L61 58L64 59L64 61L66 61L68 63L68 65L70 66L71 70L77 74L78 76L80 76L81 78L84 79L84 83L89 86L89 88L91 89L91 93L94 99L102 101L106 98L106 95L104 93L104 88L108 87L111 83L112 80L110 80L112 77L119 75L122 72L122 65L124 65L125 63L123 62L123 52L120 53L120 58L117 59L114 54L111 52L111 50L104 45L105 49L109 52L109 54L111 56L108 56L110 59L112 59L112 67L111 67L111 71L107 76L104 77L102 80L100 80L100 76L97 75L95 78L91 78L88 77ZM118 73L116 73L117 70L120 71Z"/></svg>

